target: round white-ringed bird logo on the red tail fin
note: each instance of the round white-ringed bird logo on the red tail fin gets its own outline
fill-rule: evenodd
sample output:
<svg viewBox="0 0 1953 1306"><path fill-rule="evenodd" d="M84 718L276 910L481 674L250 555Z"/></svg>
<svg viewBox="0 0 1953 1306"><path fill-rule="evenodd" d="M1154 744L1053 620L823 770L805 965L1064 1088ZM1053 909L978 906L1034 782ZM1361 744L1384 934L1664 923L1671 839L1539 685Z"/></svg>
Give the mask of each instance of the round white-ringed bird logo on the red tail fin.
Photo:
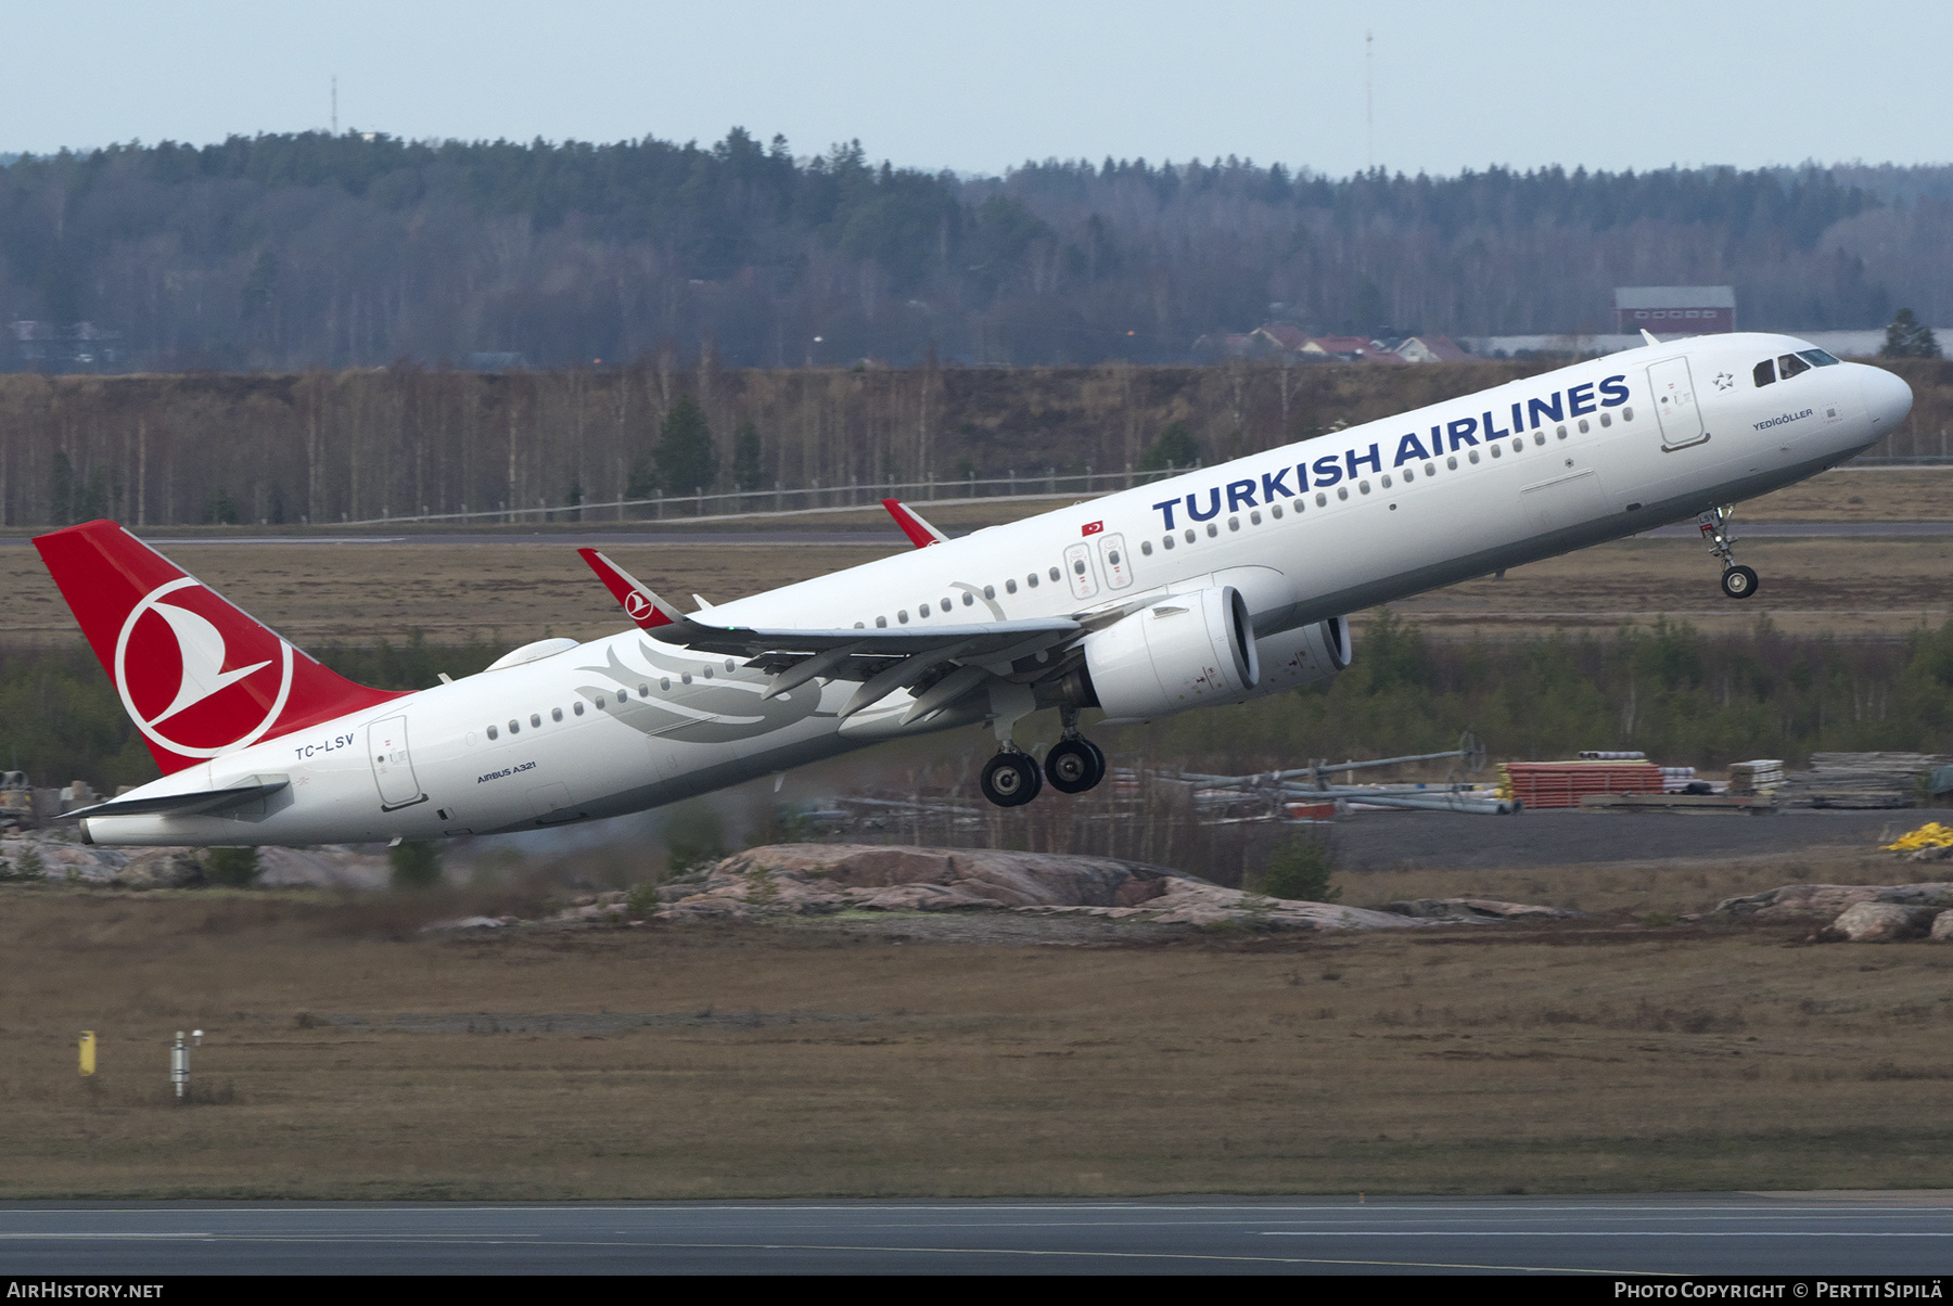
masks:
<svg viewBox="0 0 1953 1306"><path fill-rule="evenodd" d="M115 689L154 744L217 757L262 740L285 711L291 644L182 576L123 621Z"/></svg>

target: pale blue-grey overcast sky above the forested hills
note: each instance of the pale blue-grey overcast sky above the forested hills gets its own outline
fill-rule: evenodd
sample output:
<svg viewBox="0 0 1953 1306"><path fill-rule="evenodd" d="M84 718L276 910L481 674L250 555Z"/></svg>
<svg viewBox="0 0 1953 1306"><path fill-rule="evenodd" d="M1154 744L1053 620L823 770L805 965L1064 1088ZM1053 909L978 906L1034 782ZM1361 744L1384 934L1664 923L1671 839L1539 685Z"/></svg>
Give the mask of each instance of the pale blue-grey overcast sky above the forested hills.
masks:
<svg viewBox="0 0 1953 1306"><path fill-rule="evenodd" d="M0 152L324 129L338 74L342 129L709 143L742 125L957 172L1953 158L1945 0L0 0Z"/></svg>

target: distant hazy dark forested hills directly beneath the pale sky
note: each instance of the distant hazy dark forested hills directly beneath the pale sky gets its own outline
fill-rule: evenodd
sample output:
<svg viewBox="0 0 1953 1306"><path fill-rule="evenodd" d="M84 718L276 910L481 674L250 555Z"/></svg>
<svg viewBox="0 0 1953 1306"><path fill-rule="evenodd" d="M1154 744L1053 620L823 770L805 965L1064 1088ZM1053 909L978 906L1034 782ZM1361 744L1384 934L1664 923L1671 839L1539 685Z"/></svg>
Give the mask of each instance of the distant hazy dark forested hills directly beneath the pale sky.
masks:
<svg viewBox="0 0 1953 1306"><path fill-rule="evenodd" d="M1736 287L1744 326L1953 310L1953 168L1351 178L1250 160L955 176L713 144L381 133L0 166L0 320L107 371L1184 361L1215 330L1611 326L1615 285ZM109 355L113 353L113 361ZM10 367L25 367L16 347Z"/></svg>

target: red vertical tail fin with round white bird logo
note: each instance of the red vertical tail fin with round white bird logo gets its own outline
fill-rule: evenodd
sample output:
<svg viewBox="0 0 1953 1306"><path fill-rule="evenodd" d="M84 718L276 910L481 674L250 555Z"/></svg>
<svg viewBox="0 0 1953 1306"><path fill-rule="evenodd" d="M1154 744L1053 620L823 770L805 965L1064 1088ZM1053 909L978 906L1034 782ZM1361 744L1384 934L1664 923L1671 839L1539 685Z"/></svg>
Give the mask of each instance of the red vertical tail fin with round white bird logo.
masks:
<svg viewBox="0 0 1953 1306"><path fill-rule="evenodd" d="M113 521L33 547L164 775L402 697L328 672Z"/></svg>

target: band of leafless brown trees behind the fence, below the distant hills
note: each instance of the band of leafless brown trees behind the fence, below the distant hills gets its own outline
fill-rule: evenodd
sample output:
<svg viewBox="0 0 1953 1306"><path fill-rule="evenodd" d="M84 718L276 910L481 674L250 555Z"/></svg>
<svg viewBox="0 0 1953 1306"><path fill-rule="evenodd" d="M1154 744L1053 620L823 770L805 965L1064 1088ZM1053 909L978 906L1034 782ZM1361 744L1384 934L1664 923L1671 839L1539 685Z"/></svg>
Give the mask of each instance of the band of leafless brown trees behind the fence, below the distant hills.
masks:
<svg viewBox="0 0 1953 1306"><path fill-rule="evenodd" d="M1953 363L1887 365L1912 385L1914 408L1869 453L1943 455ZM0 525L332 525L512 510L615 521L695 506L584 506L695 492L748 494L719 511L873 504L875 486L955 498L973 478L1059 490L1053 476L1217 463L1549 367L732 369L660 353L510 373L6 375ZM826 490L816 504L779 502L769 492L781 486Z"/></svg>

